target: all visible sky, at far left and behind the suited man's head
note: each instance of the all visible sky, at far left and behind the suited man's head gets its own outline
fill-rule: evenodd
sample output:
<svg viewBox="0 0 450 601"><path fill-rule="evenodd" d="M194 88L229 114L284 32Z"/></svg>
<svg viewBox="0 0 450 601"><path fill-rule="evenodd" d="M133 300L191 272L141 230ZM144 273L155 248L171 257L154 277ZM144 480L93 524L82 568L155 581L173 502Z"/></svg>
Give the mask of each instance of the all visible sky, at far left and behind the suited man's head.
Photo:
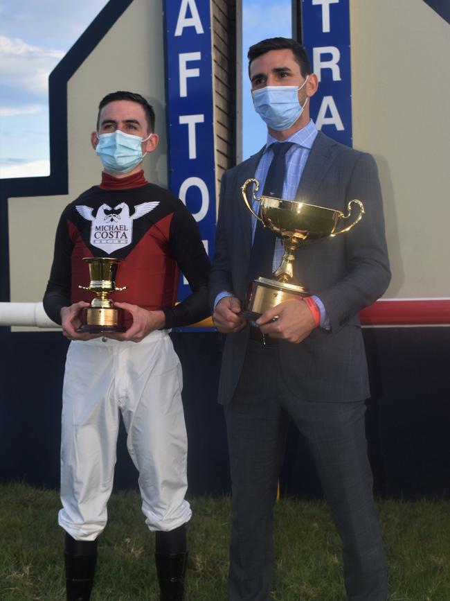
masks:
<svg viewBox="0 0 450 601"><path fill-rule="evenodd" d="M48 75L107 0L0 0L0 178L50 173ZM242 0L243 156L266 129L251 103L246 51L264 37L291 37L291 0Z"/></svg>

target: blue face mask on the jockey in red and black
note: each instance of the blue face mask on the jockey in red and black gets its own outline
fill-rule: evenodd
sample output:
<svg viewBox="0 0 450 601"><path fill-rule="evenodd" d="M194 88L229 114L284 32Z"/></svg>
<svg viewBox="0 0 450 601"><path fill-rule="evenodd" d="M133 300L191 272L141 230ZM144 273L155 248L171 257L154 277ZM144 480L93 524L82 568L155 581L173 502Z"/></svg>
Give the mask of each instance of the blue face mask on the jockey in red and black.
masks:
<svg viewBox="0 0 450 601"><path fill-rule="evenodd" d="M105 169L114 173L127 173L132 171L147 154L142 154L141 144L150 139L152 134L143 140L139 136L116 130L111 134L97 134L97 137L96 153Z"/></svg>

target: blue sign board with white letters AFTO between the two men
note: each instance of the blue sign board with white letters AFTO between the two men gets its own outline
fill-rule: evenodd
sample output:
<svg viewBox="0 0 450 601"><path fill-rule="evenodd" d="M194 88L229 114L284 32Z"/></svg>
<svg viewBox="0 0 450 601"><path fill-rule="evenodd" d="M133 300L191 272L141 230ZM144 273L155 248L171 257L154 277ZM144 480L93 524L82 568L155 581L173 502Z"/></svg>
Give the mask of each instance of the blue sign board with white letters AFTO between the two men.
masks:
<svg viewBox="0 0 450 601"><path fill-rule="evenodd" d="M210 0L165 0L164 12L169 187L195 217L212 257L216 211ZM189 293L181 279L178 299Z"/></svg>

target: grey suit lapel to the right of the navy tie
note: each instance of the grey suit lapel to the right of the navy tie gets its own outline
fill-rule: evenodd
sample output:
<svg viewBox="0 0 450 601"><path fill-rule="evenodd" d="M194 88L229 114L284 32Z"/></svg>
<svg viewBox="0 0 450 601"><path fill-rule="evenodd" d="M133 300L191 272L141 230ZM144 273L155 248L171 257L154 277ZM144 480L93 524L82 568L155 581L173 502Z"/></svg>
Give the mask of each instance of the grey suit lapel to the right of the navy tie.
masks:
<svg viewBox="0 0 450 601"><path fill-rule="evenodd" d="M336 155L335 146L336 142L334 140L325 136L322 132L318 132L309 153L300 184L298 184L296 200L312 202L318 185L332 166Z"/></svg>

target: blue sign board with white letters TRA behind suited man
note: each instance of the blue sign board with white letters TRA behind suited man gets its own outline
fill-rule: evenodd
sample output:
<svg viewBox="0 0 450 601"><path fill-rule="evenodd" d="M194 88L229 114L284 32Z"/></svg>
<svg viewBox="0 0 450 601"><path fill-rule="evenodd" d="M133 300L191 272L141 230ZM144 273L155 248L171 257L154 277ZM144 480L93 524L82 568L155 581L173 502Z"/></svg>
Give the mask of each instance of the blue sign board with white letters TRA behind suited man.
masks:
<svg viewBox="0 0 450 601"><path fill-rule="evenodd" d="M352 146L349 0L303 0L302 43L318 77L309 111L319 130Z"/></svg>

